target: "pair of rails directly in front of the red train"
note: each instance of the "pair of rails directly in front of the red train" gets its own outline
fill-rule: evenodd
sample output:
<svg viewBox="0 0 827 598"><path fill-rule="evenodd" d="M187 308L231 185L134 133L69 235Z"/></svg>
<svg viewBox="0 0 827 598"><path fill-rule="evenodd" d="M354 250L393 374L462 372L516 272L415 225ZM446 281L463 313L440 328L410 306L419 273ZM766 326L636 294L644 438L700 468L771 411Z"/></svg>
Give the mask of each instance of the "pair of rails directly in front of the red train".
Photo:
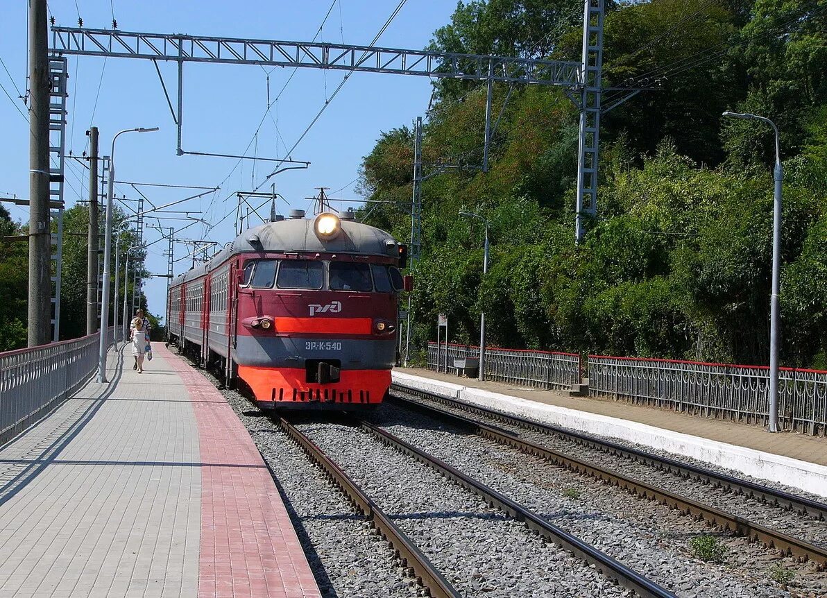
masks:
<svg viewBox="0 0 827 598"><path fill-rule="evenodd" d="M393 434L364 419L353 419L352 421L366 432L372 434L381 443L393 447L404 455L413 457L423 465L437 471L447 478L447 480L453 481L466 490L471 491L473 494L480 496L487 504L500 509L504 514L509 515L509 517L522 522L528 529L533 530L546 540L564 548L567 552L581 559L581 561L594 567L604 576L614 580L619 586L633 591L635 595L641 596L642 598L675 597L672 591L668 591L662 586L659 586L654 581L648 579L648 577L634 571L631 567L625 566L608 554L583 542L571 533L557 527L557 525L550 523L547 519L525 508L523 505L519 505L516 501L509 499L508 496L485 486L485 484L476 481L471 478L471 476L467 476L446 462L442 462L437 457L429 455L418 447L406 443L404 440L395 437ZM342 471L340 466L327 457L320 447L313 443L308 436L299 431L288 419L280 418L278 424L290 438L293 438L296 443L299 443L313 461L317 462L327 471L327 474L337 483L337 486L342 488L350 497L351 501L356 505L356 508L374 520L376 527L380 529L380 532L385 535L385 538L394 548L399 551L400 557L408 562L409 567L413 567L414 574L419 578L423 586L428 588L432 596L459 596L446 581L445 577L428 561L428 558L425 557L414 543L411 543L409 538L399 530L393 521L381 511L375 501L371 500L370 497L356 486L356 483Z"/></svg>

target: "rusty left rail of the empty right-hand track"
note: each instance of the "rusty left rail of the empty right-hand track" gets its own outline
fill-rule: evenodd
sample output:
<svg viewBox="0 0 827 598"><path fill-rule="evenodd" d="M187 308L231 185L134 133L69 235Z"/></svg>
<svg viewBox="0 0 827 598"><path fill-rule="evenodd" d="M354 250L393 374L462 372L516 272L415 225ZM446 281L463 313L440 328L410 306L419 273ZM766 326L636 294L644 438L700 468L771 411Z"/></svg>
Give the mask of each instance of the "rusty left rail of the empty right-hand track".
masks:
<svg viewBox="0 0 827 598"><path fill-rule="evenodd" d="M594 477L600 481L604 481L613 486L618 486L623 490L631 492L633 495L638 495L650 500L657 500L657 502L667 505L672 509L680 511L682 514L691 514L701 517L710 524L718 525L724 529L730 529L739 535L742 535L750 540L757 540L763 544L783 550L788 554L802 559L807 559L816 564L817 567L827 567L827 549L820 548L801 540L794 538L786 533L779 532L775 529L767 528L761 524L757 524L748 519L743 519L737 515L728 513L724 510L715 507L704 505L697 500L686 498L685 496L677 495L670 490L664 490L658 486L653 486L645 481L637 480L633 477L625 476L618 471L611 470L607 467L597 466L589 462L582 461L571 455L566 455L562 452L557 452L551 448L543 447L539 444L532 443L523 438L519 438L514 433L500 428L494 428L480 423L474 419L466 418L462 415L453 414L438 407L418 403L417 401L404 399L402 397L393 397L392 401L401 403L405 408L418 411L433 417L459 424L462 427L470 427L476 430L476 433L484 438L490 438L495 442L505 444L509 447L514 447L521 452L529 455L541 457L547 461L553 462L558 466L565 467L578 473L586 474Z"/></svg>

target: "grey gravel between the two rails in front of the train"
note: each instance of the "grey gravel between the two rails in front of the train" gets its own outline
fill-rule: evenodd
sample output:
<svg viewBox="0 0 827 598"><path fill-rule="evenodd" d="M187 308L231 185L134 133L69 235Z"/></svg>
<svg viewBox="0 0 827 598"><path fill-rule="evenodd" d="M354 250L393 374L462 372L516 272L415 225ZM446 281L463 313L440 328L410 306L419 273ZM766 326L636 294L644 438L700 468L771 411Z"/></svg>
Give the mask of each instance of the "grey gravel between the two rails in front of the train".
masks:
<svg viewBox="0 0 827 598"><path fill-rule="evenodd" d="M298 427L376 500L464 596L628 595L478 496L360 429L332 423Z"/></svg>

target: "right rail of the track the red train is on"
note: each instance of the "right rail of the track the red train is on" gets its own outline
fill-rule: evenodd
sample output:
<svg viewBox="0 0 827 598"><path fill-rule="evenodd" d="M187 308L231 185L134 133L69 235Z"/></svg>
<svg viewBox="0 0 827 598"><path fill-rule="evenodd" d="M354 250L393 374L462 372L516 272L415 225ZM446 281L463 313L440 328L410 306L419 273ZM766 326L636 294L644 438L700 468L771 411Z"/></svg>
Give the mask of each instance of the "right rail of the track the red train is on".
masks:
<svg viewBox="0 0 827 598"><path fill-rule="evenodd" d="M581 560L593 565L597 571L614 579L621 586L634 591L638 596L642 598L675 598L675 595L671 591L658 586L654 581L626 567L608 554L601 552L590 544L583 542L580 538L576 538L576 536L566 532L566 530L558 528L557 525L552 524L547 519L519 505L507 496L500 494L497 490L485 486L470 476L466 476L466 474L457 470L455 467L448 465L446 462L442 462L437 459L437 457L429 455L427 452L424 452L418 447L414 447L412 444L406 443L401 438L396 438L390 432L386 432L373 423L366 422L365 420L360 420L360 423L362 428L374 434L381 442L394 447L403 454L409 455L409 457L414 457L447 479L457 482L457 484L466 488L466 490L471 490L471 492L479 495L490 505L504 511L504 513L509 514L511 517L514 517L514 519L522 521L528 529L532 529L543 536L543 538L556 543Z"/></svg>

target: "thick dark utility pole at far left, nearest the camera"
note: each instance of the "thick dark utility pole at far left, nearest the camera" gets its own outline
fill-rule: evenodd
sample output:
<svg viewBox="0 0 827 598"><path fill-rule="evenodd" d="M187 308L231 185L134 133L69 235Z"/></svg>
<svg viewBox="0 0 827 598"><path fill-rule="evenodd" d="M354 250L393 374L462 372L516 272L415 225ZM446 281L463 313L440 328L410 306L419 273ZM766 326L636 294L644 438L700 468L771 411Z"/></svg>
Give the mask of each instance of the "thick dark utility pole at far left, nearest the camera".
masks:
<svg viewBox="0 0 827 598"><path fill-rule="evenodd" d="M29 0L29 347L50 341L49 45L46 0Z"/></svg>

